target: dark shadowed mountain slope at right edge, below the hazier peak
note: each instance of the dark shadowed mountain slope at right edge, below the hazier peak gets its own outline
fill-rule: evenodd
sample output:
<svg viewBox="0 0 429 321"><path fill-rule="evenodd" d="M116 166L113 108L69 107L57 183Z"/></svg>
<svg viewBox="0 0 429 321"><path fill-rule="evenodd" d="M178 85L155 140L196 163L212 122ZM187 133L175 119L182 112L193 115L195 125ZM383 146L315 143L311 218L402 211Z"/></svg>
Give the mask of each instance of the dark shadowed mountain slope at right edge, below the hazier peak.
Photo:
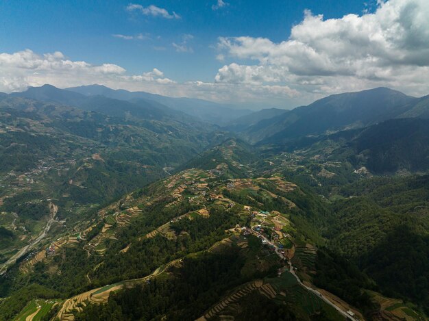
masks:
<svg viewBox="0 0 429 321"><path fill-rule="evenodd" d="M351 164L356 170L364 166L376 175L426 172L429 170L429 120L396 118L361 129L272 144L269 150L295 153L308 161Z"/></svg>

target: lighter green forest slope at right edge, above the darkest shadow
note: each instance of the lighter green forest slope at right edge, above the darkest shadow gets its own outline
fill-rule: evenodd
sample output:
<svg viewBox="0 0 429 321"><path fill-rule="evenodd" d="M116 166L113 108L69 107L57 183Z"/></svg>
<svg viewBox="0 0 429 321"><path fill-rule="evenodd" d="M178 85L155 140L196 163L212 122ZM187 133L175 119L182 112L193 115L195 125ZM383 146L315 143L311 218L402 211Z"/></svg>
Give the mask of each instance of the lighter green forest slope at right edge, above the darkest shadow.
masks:
<svg viewBox="0 0 429 321"><path fill-rule="evenodd" d="M395 227L407 225L424 235L429 229L429 177L362 179L339 190L324 235L347 257L362 257Z"/></svg>

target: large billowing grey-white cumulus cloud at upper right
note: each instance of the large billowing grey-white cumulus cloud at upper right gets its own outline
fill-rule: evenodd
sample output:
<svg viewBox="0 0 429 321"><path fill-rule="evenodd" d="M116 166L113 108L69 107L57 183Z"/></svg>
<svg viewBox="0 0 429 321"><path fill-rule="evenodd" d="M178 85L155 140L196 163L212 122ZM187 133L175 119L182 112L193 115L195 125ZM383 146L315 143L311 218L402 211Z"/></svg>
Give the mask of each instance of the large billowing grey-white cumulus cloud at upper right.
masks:
<svg viewBox="0 0 429 321"><path fill-rule="evenodd" d="M219 38L221 54L255 65L229 64L218 82L282 83L301 92L392 86L429 90L429 6L426 0L378 1L373 13L324 19L304 12L282 42L249 36Z"/></svg>

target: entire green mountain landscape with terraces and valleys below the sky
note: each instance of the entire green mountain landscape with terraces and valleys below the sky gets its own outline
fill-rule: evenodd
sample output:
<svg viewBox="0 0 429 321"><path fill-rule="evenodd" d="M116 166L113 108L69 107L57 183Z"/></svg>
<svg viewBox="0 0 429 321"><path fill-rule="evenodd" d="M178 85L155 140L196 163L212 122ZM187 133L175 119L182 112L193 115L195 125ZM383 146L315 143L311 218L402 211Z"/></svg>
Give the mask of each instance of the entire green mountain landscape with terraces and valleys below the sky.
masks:
<svg viewBox="0 0 429 321"><path fill-rule="evenodd" d="M429 311L428 97L252 112L45 85L0 95L0 159L0 320Z"/></svg>

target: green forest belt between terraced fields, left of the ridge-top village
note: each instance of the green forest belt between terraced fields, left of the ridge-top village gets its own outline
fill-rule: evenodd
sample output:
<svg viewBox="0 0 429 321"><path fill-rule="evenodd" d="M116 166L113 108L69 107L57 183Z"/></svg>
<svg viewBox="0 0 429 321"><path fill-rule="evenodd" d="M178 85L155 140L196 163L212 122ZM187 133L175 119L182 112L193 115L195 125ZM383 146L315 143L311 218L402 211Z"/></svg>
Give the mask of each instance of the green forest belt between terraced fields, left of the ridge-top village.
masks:
<svg viewBox="0 0 429 321"><path fill-rule="evenodd" d="M161 210L161 207L157 205L145 216L145 221L150 222L150 225L153 226L151 229L145 229L145 233L162 225L165 220L171 220L175 216L195 209L193 206L195 205L184 203L180 207L163 208ZM101 284L143 277L168 261L182 257L187 253L201 251L222 240L225 237L225 229L234 226L236 222L238 222L238 216L231 214L229 211L210 208L209 218L195 216L193 220L184 218L171 223L171 228L177 231L178 234L182 231L186 232L173 240L160 235L153 238L142 237L141 240L134 240L126 253L108 255L103 260L104 263L95 272L90 273L90 277L99 280ZM133 228L124 229L119 233L118 238L119 240L130 242L132 240L130 236L134 233L136 233L136 230ZM134 235L143 236L145 233L140 232ZM116 252L114 249L117 249L117 252L119 252L125 246L126 243L112 244L112 250Z"/></svg>

